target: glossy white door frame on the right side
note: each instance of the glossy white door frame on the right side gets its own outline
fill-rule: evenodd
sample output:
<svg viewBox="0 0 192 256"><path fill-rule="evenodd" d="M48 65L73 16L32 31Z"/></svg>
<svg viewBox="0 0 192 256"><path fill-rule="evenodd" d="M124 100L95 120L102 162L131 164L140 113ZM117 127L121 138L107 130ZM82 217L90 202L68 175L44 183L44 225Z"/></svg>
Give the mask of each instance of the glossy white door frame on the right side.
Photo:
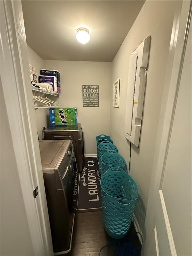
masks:
<svg viewBox="0 0 192 256"><path fill-rule="evenodd" d="M142 255L149 255L152 236L154 236L154 208L156 204L155 198L157 198L158 189L161 189L164 175L190 19L191 1L182 1L181 5L175 12L173 21L161 115L159 119L159 128L157 133L155 157L153 163L153 172L150 182L149 198L146 211L146 235L144 237ZM169 220L167 220L166 228L167 233L169 234L171 253L172 255L176 256Z"/></svg>

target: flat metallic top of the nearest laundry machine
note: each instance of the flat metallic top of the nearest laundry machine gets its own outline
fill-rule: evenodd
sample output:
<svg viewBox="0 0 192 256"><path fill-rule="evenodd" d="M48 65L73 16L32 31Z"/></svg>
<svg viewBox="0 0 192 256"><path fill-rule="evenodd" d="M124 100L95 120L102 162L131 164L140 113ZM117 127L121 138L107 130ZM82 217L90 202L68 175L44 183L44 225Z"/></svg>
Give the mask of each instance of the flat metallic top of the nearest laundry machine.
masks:
<svg viewBox="0 0 192 256"><path fill-rule="evenodd" d="M39 149L43 172L54 172L58 169L64 155L66 154L70 140L40 140Z"/></svg>

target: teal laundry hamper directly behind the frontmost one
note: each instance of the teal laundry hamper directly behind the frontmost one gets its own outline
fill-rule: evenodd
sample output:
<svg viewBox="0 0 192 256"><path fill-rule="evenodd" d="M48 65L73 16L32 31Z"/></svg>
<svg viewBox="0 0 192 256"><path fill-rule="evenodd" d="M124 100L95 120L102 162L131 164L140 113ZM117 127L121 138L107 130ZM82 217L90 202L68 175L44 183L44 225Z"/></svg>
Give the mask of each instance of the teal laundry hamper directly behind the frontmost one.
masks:
<svg viewBox="0 0 192 256"><path fill-rule="evenodd" d="M108 150L101 157L101 175L103 175L109 168L113 166L120 167L124 171L127 170L124 158L115 150Z"/></svg>

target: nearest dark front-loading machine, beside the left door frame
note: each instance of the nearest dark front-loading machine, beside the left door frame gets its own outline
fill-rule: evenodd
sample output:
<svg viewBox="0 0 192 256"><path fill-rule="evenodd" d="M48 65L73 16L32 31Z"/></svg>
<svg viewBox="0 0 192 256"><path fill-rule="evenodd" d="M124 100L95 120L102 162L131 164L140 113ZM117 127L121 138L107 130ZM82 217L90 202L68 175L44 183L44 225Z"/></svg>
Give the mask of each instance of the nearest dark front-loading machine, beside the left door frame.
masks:
<svg viewBox="0 0 192 256"><path fill-rule="evenodd" d="M71 140L39 141L54 255L71 250L78 204L77 162Z"/></svg>

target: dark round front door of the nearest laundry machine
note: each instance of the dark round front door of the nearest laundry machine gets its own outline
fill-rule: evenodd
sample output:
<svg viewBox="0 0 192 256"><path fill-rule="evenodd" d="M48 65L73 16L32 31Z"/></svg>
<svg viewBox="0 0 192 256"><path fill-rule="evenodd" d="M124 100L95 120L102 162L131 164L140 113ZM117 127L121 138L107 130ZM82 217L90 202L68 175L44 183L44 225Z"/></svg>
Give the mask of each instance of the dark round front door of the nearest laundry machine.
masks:
<svg viewBox="0 0 192 256"><path fill-rule="evenodd" d="M75 212L77 210L78 204L78 169L77 160L75 157L71 159L69 167L69 182L68 182L68 207L70 212Z"/></svg>

